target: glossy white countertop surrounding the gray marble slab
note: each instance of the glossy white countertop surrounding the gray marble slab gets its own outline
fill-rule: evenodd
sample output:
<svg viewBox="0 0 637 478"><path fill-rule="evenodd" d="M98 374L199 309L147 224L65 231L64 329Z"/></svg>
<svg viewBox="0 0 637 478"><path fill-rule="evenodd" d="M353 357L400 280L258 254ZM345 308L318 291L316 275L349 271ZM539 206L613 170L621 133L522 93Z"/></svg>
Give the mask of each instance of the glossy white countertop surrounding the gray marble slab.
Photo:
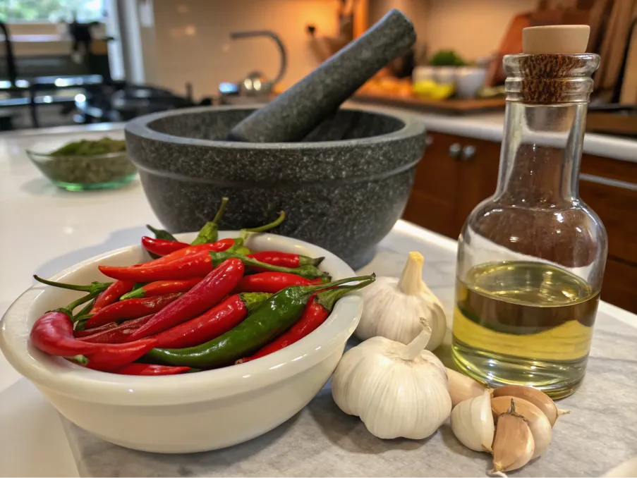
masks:
<svg viewBox="0 0 637 478"><path fill-rule="evenodd" d="M55 130L75 140L102 137L105 128L109 126ZM25 154L45 133L0 134L0 314L32 284L31 274L49 276L87 257L137 243L146 223L159 223L138 181L102 192L65 192L51 185ZM454 247L454 241L409 223L399 221L396 228ZM600 310L637 326L637 317L629 312L604 303ZM57 413L1 355L0 477L78 477Z"/></svg>

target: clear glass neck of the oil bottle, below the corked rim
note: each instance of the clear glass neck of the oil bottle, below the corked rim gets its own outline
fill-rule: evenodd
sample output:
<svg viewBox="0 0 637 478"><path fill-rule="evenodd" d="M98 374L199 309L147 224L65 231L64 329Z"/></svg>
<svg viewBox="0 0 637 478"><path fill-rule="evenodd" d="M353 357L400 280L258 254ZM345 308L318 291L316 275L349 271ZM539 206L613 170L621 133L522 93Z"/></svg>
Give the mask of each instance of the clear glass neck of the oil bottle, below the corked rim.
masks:
<svg viewBox="0 0 637 478"><path fill-rule="evenodd" d="M496 200L555 207L579 199L586 108L507 102Z"/></svg>

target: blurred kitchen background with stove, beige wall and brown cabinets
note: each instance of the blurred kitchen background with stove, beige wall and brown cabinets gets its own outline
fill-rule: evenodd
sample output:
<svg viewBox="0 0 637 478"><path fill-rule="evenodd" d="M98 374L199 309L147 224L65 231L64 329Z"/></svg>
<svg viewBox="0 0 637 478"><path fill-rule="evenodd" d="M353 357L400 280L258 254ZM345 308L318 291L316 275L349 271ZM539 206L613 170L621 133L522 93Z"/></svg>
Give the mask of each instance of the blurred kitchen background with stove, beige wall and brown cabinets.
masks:
<svg viewBox="0 0 637 478"><path fill-rule="evenodd" d="M590 25L602 63L580 190L609 234L602 298L637 312L637 0L0 0L0 130L267 102L390 8L418 42L354 99L423 118L404 218L451 238L495 190L502 56L523 27Z"/></svg>

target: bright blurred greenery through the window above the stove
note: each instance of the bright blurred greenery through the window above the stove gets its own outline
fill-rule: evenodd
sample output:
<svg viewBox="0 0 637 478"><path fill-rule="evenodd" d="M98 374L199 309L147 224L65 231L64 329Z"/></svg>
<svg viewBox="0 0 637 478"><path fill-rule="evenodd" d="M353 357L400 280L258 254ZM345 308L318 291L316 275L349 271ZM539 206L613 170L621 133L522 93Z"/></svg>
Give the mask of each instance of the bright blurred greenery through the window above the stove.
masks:
<svg viewBox="0 0 637 478"><path fill-rule="evenodd" d="M0 0L0 21L5 23L57 23L77 18L101 20L104 0Z"/></svg>

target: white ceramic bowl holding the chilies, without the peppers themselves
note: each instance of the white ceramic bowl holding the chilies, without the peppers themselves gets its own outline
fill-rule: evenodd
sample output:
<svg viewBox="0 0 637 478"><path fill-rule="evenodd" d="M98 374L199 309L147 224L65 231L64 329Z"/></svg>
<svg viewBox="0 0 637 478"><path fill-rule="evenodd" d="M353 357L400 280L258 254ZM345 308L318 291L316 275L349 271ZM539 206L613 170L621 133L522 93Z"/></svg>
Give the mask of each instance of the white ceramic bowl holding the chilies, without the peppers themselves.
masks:
<svg viewBox="0 0 637 478"><path fill-rule="evenodd" d="M194 235L181 235L188 240ZM220 238L238 237L224 231ZM253 235L253 250L324 256L321 269L335 279L354 276L338 257L315 245L279 235ZM104 280L98 264L147 260L140 245L80 262L52 277L88 283ZM316 331L279 352L222 369L175 376L126 376L85 369L33 348L32 324L78 293L33 286L13 302L0 323L0 349L71 422L104 440L160 453L214 450L277 427L307 405L327 382L363 311L360 295L339 300Z"/></svg>

